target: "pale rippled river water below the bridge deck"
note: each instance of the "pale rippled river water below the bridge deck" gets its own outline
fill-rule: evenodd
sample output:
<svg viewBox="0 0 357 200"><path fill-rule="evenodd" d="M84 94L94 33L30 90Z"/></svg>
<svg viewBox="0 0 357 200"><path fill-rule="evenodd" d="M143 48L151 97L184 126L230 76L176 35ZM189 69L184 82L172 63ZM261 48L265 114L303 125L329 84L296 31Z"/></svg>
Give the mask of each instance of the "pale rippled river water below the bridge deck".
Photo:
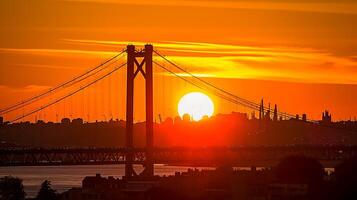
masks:
<svg viewBox="0 0 357 200"><path fill-rule="evenodd" d="M141 165L134 166L141 172ZM173 175L175 172L187 171L189 167L155 165L156 175ZM203 169L203 168L199 168ZM205 168L207 169L207 168ZM79 187L85 176L102 176L120 178L124 175L124 165L85 165L85 166L36 166L36 167L0 167L0 177L14 176L23 180L27 197L35 197L43 181L51 181L52 187L63 192L72 187Z"/></svg>

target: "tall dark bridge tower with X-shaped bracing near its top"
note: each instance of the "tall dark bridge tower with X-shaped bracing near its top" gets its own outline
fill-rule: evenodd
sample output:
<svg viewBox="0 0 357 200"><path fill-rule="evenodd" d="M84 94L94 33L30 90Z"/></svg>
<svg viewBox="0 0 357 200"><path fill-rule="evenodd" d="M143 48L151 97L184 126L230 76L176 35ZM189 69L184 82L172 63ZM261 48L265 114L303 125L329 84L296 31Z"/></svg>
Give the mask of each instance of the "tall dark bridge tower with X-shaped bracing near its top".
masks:
<svg viewBox="0 0 357 200"><path fill-rule="evenodd" d="M130 178L136 173L133 168L133 115L134 115L134 80L141 73L145 78L146 96L146 162L143 174L154 175L153 149L153 46L145 45L143 50L137 51L134 45L127 46L127 94L126 94L126 147L128 149L125 164L125 177ZM137 58L143 58L141 62Z"/></svg>

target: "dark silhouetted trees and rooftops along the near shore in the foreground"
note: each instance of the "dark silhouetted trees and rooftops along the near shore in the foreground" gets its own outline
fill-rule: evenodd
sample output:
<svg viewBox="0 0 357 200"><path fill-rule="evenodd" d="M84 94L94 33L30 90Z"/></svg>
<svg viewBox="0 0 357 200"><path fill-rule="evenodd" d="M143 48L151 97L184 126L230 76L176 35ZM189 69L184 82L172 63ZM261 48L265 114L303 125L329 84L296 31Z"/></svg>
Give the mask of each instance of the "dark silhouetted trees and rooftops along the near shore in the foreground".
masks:
<svg viewBox="0 0 357 200"><path fill-rule="evenodd" d="M234 170L222 166L215 170L189 169L171 176L137 175L130 179L97 174L84 178L82 187L61 194L53 191L49 183L43 183L37 199L356 199L356 169L357 159L353 158L327 174L322 165L312 158L289 156L277 166L262 170L254 167L251 170ZM24 199L21 195L12 195L17 198L5 197L11 192L21 194L21 188L15 190L16 184L9 184L9 179L1 179L1 199Z"/></svg>

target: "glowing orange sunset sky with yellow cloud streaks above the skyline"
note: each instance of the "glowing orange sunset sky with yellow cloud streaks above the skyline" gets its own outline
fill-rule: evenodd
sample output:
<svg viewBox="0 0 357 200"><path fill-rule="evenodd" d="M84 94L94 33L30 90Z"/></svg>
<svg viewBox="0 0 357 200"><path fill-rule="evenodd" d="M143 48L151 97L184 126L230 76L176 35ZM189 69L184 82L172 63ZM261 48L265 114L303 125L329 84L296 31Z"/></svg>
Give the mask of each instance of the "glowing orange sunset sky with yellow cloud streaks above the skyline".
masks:
<svg viewBox="0 0 357 200"><path fill-rule="evenodd" d="M0 23L0 108L82 73L129 42L149 42L180 66L247 99L264 97L283 111L315 119L324 109L335 120L357 115L352 0L2 0ZM122 118L124 88L115 83L124 74L117 75L48 110L47 119L86 112L90 120ZM177 115L180 96L196 90L170 77L155 80L155 113L165 117ZM89 100L96 106L89 107ZM244 111L214 101L216 113Z"/></svg>

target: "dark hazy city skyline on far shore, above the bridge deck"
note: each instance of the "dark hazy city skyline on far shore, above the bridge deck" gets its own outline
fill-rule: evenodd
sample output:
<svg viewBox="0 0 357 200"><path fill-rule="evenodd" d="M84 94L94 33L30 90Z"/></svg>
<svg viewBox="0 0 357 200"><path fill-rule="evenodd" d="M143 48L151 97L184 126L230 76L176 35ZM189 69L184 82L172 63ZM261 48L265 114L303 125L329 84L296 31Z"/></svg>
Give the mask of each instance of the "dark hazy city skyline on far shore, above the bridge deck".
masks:
<svg viewBox="0 0 357 200"><path fill-rule="evenodd" d="M268 109L265 109L267 112ZM274 112L274 111L273 111ZM200 121L191 121L187 116L182 120L177 116L155 123L156 145L174 146L236 146L236 145L296 145L296 144L357 144L357 122L330 121L328 124L304 122L300 120L250 118L246 113L232 112L217 114ZM304 122L304 123L302 123ZM61 123L39 121L7 124L0 129L0 141L21 146L43 147L118 147L125 142L124 120L108 122L83 122L82 119L64 118ZM145 131L145 122L134 124L135 146L143 147L145 139L140 136ZM100 136L98 136L100 133ZM303 133L303 134L302 134ZM282 137L284 135L284 137ZM314 135L314 140L311 137ZM188 142L190 141L190 142Z"/></svg>

